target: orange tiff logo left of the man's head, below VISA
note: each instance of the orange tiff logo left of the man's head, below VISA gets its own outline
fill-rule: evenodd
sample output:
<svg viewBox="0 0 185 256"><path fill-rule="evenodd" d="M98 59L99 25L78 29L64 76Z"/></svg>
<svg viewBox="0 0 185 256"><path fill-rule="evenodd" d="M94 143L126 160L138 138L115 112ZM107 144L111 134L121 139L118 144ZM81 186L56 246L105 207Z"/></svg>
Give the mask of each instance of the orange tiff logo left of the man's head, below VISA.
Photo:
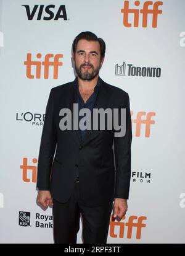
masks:
<svg viewBox="0 0 185 256"><path fill-rule="evenodd" d="M42 55L41 53L38 53L36 55L36 58L41 59ZM54 61L51 61L50 59L54 58ZM36 68L36 79L41 78L41 65L44 66L44 79L48 79L49 77L49 67L53 66L53 78L58 78L58 71L59 66L62 66L63 63L59 61L60 58L63 58L62 54L56 54L53 55L52 53L48 53L44 57L44 61L32 61L31 60L31 53L27 53L27 60L24 61L25 66L27 66L27 77L29 79L35 78L33 74L31 74L31 67Z"/></svg>

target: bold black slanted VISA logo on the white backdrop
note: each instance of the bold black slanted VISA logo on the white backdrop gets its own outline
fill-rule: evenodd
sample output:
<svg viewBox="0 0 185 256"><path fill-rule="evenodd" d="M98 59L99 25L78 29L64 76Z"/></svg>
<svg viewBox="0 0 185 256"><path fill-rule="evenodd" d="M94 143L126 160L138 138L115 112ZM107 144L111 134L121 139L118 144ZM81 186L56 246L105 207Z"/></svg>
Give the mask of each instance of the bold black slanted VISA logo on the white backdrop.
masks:
<svg viewBox="0 0 185 256"><path fill-rule="evenodd" d="M43 4L39 6L36 4L33 8L30 8L27 4L23 4L22 6L25 7L28 20L33 20L34 17L36 20L67 20L67 12L64 5L55 7L54 4L50 4L49 6L44 6Z"/></svg>

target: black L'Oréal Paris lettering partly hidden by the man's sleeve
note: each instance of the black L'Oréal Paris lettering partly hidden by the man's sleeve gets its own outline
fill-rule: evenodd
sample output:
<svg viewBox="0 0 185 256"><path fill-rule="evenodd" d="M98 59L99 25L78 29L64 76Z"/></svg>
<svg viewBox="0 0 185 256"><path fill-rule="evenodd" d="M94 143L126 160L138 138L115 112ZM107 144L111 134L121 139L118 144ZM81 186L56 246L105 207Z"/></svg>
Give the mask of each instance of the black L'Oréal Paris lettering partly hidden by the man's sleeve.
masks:
<svg viewBox="0 0 185 256"><path fill-rule="evenodd" d="M31 112L22 112L16 113L16 121L26 121L35 126L43 126L45 120L45 114L40 113L31 113Z"/></svg>

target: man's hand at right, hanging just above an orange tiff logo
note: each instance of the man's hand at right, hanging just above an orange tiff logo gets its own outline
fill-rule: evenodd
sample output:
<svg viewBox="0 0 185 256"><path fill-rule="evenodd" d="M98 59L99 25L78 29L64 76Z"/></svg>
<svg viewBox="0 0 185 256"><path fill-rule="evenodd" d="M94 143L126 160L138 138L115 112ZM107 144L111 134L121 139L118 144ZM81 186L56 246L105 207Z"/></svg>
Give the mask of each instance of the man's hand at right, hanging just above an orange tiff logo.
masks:
<svg viewBox="0 0 185 256"><path fill-rule="evenodd" d="M128 209L127 200L123 198L115 198L113 203L113 218L123 218L125 216L126 211Z"/></svg>

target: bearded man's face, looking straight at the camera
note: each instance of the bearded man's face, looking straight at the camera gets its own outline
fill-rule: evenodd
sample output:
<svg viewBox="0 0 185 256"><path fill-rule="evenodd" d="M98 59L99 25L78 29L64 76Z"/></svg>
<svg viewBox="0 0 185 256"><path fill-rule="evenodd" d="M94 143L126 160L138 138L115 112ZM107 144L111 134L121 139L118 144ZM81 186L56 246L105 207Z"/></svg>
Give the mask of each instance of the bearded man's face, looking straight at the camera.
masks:
<svg viewBox="0 0 185 256"><path fill-rule="evenodd" d="M83 80L91 81L99 74L104 62L101 60L99 42L81 39L76 46L76 53L73 53L73 61L78 76Z"/></svg>

